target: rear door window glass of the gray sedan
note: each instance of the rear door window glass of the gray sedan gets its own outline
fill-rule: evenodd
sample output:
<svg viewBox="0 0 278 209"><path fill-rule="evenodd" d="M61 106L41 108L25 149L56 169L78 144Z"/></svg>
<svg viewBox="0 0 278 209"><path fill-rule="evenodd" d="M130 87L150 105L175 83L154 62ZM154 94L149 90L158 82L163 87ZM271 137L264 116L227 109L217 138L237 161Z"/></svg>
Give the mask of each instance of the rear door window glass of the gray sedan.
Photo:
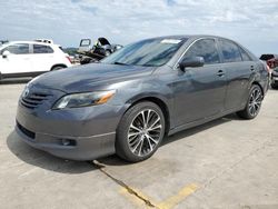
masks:
<svg viewBox="0 0 278 209"><path fill-rule="evenodd" d="M242 61L241 53L237 44L229 40L219 40L219 43L224 56L224 62Z"/></svg>

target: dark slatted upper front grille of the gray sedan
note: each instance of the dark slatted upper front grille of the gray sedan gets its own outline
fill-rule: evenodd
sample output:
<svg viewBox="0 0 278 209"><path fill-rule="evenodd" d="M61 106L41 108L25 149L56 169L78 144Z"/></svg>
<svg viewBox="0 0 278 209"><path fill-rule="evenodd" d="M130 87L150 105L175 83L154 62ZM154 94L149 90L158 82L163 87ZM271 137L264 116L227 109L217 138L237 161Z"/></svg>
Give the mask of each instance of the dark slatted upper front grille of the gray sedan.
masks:
<svg viewBox="0 0 278 209"><path fill-rule="evenodd" d="M47 93L30 93L21 98L21 104L29 109L34 109L40 106L44 100L48 100L51 94Z"/></svg>

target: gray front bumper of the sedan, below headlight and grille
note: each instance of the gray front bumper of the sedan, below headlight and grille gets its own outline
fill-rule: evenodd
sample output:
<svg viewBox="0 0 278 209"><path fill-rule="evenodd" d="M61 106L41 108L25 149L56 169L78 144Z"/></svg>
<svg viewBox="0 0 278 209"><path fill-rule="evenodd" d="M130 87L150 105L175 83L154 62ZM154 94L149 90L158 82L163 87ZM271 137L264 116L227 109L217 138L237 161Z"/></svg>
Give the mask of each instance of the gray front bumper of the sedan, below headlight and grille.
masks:
<svg viewBox="0 0 278 209"><path fill-rule="evenodd" d="M53 101L49 99L31 109L21 99L16 132L31 147L73 160L92 160L115 153L116 129L123 107L106 103L51 110Z"/></svg>

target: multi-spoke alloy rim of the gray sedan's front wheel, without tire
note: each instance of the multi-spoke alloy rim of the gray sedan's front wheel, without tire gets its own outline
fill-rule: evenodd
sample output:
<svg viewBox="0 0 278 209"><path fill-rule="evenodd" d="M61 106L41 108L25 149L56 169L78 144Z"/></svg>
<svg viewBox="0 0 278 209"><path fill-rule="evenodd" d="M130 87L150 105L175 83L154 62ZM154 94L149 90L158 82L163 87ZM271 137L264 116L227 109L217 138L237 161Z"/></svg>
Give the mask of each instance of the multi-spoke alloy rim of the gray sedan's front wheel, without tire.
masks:
<svg viewBox="0 0 278 209"><path fill-rule="evenodd" d="M130 151L143 157L152 152L162 136L160 116L152 109L140 111L128 129L128 146Z"/></svg>

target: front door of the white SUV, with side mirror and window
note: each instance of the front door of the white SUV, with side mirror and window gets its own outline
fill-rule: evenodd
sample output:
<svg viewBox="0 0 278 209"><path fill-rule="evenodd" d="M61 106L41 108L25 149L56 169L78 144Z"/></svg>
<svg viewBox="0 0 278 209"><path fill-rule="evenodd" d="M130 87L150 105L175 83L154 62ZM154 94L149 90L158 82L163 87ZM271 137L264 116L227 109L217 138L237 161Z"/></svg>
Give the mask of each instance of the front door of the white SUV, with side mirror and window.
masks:
<svg viewBox="0 0 278 209"><path fill-rule="evenodd" d="M3 57L2 53L9 51L10 54ZM30 46L28 43L14 43L1 50L0 71L3 74L22 74L31 72Z"/></svg>

